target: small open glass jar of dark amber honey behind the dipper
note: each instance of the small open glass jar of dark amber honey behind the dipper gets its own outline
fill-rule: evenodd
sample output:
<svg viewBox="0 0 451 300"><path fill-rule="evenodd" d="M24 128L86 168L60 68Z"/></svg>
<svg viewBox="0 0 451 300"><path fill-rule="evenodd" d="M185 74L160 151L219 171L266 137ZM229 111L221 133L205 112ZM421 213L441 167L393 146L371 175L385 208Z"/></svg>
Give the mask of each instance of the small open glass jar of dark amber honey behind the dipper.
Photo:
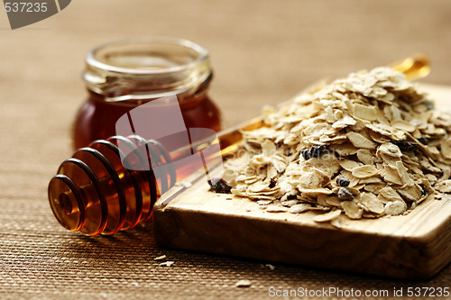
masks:
<svg viewBox="0 0 451 300"><path fill-rule="evenodd" d="M83 73L88 96L73 126L74 148L114 136L122 115L166 96L177 96L186 128L220 131L220 112L207 95L212 78L208 51L192 41L135 38L89 51Z"/></svg>

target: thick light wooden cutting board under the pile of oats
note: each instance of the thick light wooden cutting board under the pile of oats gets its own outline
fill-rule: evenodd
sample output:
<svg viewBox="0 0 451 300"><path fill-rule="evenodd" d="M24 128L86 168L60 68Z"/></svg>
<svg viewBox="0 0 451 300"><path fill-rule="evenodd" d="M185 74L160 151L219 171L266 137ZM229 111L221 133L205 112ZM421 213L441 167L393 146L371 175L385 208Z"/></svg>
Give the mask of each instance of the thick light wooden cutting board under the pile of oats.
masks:
<svg viewBox="0 0 451 300"><path fill-rule="evenodd" d="M422 85L437 108L451 87ZM174 186L154 207L161 246L263 261L409 279L432 277L451 261L451 197L425 201L410 214L316 223L315 212L268 213L248 199L209 191L204 169ZM188 187L187 187L188 186Z"/></svg>

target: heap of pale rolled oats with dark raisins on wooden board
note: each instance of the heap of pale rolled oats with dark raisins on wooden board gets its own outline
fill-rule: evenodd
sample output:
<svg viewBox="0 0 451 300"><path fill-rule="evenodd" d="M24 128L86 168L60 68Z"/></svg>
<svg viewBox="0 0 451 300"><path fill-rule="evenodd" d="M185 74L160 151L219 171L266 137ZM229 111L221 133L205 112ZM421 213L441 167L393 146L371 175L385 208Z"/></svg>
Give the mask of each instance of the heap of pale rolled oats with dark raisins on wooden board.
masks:
<svg viewBox="0 0 451 300"><path fill-rule="evenodd" d="M279 111L266 108L264 124L243 132L224 173L233 194L259 204L321 211L314 220L334 224L343 212L351 219L406 214L451 192L451 116L391 68L351 74Z"/></svg>

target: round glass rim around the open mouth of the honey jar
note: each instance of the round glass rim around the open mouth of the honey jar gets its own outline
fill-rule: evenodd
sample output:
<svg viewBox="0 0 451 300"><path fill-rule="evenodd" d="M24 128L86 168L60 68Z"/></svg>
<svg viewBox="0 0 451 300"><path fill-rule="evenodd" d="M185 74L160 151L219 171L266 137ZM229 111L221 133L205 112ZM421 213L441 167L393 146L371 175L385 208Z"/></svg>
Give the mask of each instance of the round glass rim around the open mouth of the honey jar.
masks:
<svg viewBox="0 0 451 300"><path fill-rule="evenodd" d="M167 44L167 45L173 45L176 47L185 47L189 50L194 50L198 53L198 58L190 61L189 63L177 65L177 66L171 66L167 68L124 68L120 66L115 66L113 64L108 64L106 62L100 61L97 58L97 54L101 50L107 50L108 48L113 49L113 47L116 46L125 46L125 45L131 45L131 44L141 44L141 45L157 45L157 44ZM189 41L185 39L180 38L174 38L174 37L165 37L165 36L147 36L147 37L134 37L134 38L127 38L122 39L119 41L110 41L106 42L100 46L97 46L93 50L90 50L87 52L85 61L87 65L94 67L94 68L101 68L106 71L111 71L115 73L123 73L123 74L130 74L130 75L157 75L161 73L174 73L179 72L188 68L192 68L192 66L201 64L205 60L209 59L209 53L208 51L200 46L198 43L195 43L194 41Z"/></svg>

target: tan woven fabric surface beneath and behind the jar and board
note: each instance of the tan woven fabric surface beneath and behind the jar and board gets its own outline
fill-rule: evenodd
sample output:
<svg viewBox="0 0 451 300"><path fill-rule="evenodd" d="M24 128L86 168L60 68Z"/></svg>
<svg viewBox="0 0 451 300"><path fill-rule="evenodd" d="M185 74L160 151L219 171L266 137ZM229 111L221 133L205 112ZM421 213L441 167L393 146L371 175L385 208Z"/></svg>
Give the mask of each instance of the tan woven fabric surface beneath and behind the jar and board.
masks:
<svg viewBox="0 0 451 300"><path fill-rule="evenodd" d="M163 249L149 224L87 237L64 230L47 200L50 178L72 154L70 126L86 95L83 55L97 44L170 35L204 45L216 71L211 95L232 125L320 78L416 51L433 62L426 81L450 85L450 13L447 1L77 0L15 31L0 13L0 298L256 299L270 297L271 287L336 287L388 290L384 298L394 299L394 288L406 295L409 287L451 286L449 266L406 282ZM173 266L159 267L153 259L161 255ZM235 287L241 279L252 286Z"/></svg>

